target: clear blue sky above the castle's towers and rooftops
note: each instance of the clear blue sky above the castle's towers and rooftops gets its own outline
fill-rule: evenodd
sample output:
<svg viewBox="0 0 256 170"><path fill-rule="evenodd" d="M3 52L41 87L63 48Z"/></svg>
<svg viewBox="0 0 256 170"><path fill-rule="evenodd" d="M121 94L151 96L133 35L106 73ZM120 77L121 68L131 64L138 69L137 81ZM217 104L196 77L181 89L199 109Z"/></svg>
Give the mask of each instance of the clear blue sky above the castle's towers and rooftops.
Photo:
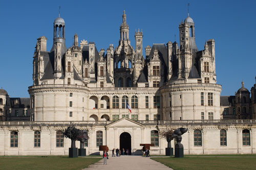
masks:
<svg viewBox="0 0 256 170"><path fill-rule="evenodd" d="M66 45L75 33L94 41L97 49L118 45L123 10L135 44L135 29L143 29L143 49L153 43L179 42L179 23L195 21L199 50L206 39L216 41L217 83L221 95L234 95L244 80L245 87L256 76L256 1L1 1L0 2L0 88L11 97L29 97L36 39L46 36L47 50L53 43L53 21L66 21Z"/></svg>

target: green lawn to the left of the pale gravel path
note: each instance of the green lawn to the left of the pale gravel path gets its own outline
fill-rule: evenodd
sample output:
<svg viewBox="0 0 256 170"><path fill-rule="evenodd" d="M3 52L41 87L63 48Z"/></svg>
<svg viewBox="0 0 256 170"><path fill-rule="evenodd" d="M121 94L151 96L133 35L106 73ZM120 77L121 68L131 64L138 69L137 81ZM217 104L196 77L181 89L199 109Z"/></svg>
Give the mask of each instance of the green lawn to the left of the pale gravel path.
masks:
<svg viewBox="0 0 256 170"><path fill-rule="evenodd" d="M82 169L100 159L68 156L0 157L0 169Z"/></svg>

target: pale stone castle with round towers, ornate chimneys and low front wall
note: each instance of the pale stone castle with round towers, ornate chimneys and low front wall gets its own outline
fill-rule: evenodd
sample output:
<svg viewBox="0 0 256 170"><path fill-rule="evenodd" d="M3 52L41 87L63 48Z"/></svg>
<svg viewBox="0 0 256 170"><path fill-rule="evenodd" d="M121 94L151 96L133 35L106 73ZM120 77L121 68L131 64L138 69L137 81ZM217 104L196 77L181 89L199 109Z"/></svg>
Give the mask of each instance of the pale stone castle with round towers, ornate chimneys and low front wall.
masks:
<svg viewBox="0 0 256 170"><path fill-rule="evenodd" d="M256 86L251 100L244 85L236 96L220 96L215 40L199 51L189 15L179 25L179 45L147 45L145 56L142 30L131 45L125 11L119 45L106 52L86 40L79 46L77 34L67 48L65 25L60 16L54 20L50 51L45 36L37 39L29 105L0 90L2 120L21 120L15 106L30 120L0 123L0 155L67 155L63 130L70 125L88 131L87 154L98 153L99 145L135 154L140 143L152 143L151 153L163 155L167 142L159 131L178 127L188 128L185 154L256 152Z"/></svg>

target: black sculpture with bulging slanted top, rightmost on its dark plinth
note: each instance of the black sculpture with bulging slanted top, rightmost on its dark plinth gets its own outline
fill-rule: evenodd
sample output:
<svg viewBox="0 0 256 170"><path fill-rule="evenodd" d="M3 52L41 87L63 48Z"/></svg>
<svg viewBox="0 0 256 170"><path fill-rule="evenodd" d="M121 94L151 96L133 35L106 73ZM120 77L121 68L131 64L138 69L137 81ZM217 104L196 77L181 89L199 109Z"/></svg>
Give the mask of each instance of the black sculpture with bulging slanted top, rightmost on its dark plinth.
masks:
<svg viewBox="0 0 256 170"><path fill-rule="evenodd" d="M175 158L183 158L184 157L184 148L183 144L181 144L182 137L184 133L187 132L187 128L178 128L174 131L172 135L172 139L176 138L177 144L175 145Z"/></svg>

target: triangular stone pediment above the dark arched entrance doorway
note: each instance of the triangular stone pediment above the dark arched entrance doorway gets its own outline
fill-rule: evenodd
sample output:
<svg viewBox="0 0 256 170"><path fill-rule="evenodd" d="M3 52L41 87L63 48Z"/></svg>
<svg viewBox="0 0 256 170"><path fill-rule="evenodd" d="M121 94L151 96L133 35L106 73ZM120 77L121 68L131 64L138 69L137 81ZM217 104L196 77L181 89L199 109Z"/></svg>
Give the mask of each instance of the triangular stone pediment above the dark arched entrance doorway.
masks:
<svg viewBox="0 0 256 170"><path fill-rule="evenodd" d="M113 122L109 125L107 125L106 127L109 127L109 128L116 128L116 127L142 127L143 125L134 121L134 120L131 120L130 118L126 118L126 117L123 117L119 120L117 120L116 122Z"/></svg>

